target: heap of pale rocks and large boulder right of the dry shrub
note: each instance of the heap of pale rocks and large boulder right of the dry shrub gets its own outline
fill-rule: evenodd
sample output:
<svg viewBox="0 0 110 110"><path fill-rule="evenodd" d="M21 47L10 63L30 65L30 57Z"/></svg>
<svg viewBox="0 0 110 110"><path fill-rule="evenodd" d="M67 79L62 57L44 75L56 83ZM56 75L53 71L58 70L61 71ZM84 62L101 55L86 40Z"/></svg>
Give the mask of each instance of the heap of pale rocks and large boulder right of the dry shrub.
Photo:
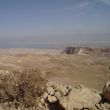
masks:
<svg viewBox="0 0 110 110"><path fill-rule="evenodd" d="M108 102L102 103L101 91L83 85L62 86L49 82L41 98L44 110L110 110Z"/></svg>

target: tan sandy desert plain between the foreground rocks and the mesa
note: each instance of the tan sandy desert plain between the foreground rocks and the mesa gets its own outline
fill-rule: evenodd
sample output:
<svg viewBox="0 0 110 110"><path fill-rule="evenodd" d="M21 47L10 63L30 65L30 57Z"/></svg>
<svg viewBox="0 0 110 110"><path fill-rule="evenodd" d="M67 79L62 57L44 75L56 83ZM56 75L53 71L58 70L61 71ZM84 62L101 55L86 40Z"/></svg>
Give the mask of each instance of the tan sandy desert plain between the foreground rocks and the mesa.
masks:
<svg viewBox="0 0 110 110"><path fill-rule="evenodd" d="M110 80L110 58L67 56L61 50L0 49L0 70L39 68L49 80L102 89Z"/></svg>

